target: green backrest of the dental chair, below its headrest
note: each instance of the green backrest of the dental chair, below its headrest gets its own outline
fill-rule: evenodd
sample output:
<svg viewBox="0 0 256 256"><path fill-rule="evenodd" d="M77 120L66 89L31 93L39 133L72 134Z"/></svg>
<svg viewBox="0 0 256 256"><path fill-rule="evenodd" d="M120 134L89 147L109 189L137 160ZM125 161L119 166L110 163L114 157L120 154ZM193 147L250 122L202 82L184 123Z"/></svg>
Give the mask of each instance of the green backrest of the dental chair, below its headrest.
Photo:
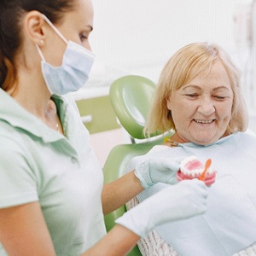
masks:
<svg viewBox="0 0 256 256"><path fill-rule="evenodd" d="M154 145L162 144L163 137L157 137L153 141L134 144L121 144L113 147L108 154L108 158L103 166L104 181L110 183L125 174L126 166L132 157L137 155L146 154ZM119 218L126 212L125 206L109 213L105 216L105 225L107 231L111 230L115 224L115 219ZM129 256L141 255L138 247L134 247Z"/></svg>

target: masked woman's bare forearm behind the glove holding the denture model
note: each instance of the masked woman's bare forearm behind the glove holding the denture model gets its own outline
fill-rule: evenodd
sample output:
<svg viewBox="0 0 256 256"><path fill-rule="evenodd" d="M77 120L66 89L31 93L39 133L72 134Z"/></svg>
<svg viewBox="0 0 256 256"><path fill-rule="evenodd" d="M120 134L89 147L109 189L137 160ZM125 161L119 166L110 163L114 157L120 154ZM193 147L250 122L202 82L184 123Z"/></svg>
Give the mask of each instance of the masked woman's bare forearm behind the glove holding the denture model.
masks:
<svg viewBox="0 0 256 256"><path fill-rule="evenodd" d="M133 171L112 183L105 184L102 190L104 214L106 215L123 206L142 191L143 187Z"/></svg>

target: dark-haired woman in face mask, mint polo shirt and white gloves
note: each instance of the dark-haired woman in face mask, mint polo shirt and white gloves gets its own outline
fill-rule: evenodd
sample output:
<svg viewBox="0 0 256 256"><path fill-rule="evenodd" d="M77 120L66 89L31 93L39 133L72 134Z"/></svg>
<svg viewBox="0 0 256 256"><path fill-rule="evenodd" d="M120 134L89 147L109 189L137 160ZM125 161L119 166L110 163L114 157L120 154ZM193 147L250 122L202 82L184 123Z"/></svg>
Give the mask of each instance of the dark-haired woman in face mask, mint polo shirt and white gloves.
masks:
<svg viewBox="0 0 256 256"><path fill-rule="evenodd" d="M206 185L177 183L176 161L151 159L103 187L67 95L94 61L90 0L1 0L0 10L1 256L125 255L154 226L206 211ZM107 235L103 214L159 181L171 185Z"/></svg>

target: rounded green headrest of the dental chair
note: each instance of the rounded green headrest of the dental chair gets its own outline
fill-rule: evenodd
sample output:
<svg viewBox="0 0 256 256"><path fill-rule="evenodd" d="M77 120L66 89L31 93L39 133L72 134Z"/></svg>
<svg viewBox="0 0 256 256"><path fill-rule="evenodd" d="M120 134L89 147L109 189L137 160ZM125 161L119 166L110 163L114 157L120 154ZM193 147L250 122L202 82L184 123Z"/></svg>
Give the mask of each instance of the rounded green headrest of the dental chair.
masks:
<svg viewBox="0 0 256 256"><path fill-rule="evenodd" d="M143 128L154 90L154 82L137 75L121 77L110 85L109 96L113 110L120 124L133 138L145 138Z"/></svg>

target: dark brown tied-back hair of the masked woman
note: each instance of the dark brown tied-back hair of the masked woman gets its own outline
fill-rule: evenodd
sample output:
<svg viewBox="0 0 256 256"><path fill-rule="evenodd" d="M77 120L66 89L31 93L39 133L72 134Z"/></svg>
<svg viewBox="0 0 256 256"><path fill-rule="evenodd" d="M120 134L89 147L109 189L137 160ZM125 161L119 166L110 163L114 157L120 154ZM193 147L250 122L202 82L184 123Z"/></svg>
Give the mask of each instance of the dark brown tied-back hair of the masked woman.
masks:
<svg viewBox="0 0 256 256"><path fill-rule="evenodd" d="M20 20L24 14L38 10L53 23L64 12L74 9L76 0L1 0L0 1L0 87L9 90L17 82L15 56L22 44Z"/></svg>

